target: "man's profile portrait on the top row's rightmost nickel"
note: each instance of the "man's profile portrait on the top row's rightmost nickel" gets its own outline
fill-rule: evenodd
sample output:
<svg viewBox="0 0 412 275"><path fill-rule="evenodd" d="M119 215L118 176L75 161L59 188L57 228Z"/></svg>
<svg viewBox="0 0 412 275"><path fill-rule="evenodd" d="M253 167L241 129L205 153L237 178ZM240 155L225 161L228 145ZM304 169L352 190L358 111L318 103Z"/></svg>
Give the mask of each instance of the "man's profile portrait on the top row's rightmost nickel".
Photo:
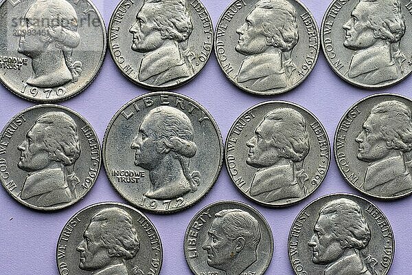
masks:
<svg viewBox="0 0 412 275"><path fill-rule="evenodd" d="M343 25L343 45L354 50L347 76L378 85L402 76L406 60L400 50L405 21L398 0L360 0Z"/></svg>

